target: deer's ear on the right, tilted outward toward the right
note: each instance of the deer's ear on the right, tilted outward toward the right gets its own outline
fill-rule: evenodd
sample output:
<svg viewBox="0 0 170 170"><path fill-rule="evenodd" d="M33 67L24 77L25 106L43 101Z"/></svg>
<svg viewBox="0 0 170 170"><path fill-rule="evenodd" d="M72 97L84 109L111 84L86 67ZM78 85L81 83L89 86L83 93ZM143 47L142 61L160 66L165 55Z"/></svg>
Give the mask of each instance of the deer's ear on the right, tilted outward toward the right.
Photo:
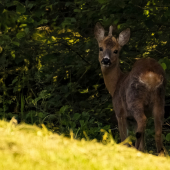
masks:
<svg viewBox="0 0 170 170"><path fill-rule="evenodd" d="M130 38L130 28L127 28L126 30L122 31L119 34L119 38L118 38L118 43L120 46L124 46Z"/></svg>

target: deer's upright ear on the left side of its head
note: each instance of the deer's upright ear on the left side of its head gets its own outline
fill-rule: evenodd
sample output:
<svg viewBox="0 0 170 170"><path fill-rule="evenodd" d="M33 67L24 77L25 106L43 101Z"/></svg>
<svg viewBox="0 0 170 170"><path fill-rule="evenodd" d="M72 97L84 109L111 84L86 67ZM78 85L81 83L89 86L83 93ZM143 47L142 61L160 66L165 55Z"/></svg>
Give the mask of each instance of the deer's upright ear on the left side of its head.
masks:
<svg viewBox="0 0 170 170"><path fill-rule="evenodd" d="M105 33L104 28L101 26L99 22L97 22L94 28L94 35L98 42L104 39L104 33Z"/></svg>

